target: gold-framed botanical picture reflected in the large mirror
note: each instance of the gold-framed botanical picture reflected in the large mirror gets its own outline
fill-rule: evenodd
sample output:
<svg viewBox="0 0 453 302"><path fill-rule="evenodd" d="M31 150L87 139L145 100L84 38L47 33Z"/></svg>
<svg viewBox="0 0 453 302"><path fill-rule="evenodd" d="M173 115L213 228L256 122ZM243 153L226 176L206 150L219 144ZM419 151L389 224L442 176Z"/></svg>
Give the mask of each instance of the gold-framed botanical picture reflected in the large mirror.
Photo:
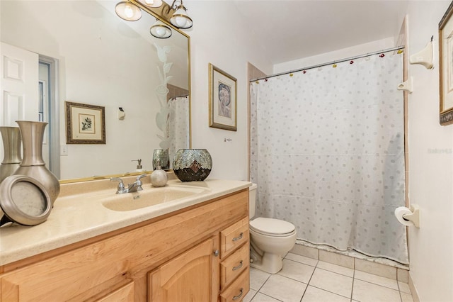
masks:
<svg viewBox="0 0 453 302"><path fill-rule="evenodd" d="M105 107L66 104L66 143L105 144Z"/></svg>

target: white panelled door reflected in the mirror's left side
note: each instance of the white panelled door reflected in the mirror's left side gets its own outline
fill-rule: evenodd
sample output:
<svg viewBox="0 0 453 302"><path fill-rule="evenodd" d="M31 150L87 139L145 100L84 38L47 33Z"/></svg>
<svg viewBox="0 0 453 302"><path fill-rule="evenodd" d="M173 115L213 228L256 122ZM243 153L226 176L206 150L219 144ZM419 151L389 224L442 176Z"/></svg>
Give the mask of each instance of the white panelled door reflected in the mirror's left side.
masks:
<svg viewBox="0 0 453 302"><path fill-rule="evenodd" d="M38 54L1 43L0 126L38 121ZM4 147L0 140L0 155Z"/></svg>

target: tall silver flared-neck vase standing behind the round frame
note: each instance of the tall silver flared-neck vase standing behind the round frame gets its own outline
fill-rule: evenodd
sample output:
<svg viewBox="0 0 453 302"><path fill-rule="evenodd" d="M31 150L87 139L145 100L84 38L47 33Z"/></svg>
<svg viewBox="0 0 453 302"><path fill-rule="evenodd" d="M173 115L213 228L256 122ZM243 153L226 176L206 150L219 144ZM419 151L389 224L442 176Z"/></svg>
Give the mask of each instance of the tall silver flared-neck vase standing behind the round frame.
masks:
<svg viewBox="0 0 453 302"><path fill-rule="evenodd" d="M35 121L16 121L21 128L23 143L23 159L21 166L14 174L32 177L44 186L50 196L52 204L59 194L59 181L55 175L45 167L42 159L42 139L47 123Z"/></svg>

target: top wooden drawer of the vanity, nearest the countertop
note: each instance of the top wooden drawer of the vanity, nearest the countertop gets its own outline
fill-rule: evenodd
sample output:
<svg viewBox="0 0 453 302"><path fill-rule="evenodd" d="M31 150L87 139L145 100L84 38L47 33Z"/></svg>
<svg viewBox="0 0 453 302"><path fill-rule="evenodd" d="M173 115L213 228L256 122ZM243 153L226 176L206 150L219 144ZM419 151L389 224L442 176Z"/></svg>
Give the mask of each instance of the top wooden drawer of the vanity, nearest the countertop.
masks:
<svg viewBox="0 0 453 302"><path fill-rule="evenodd" d="M220 255L222 259L244 242L248 242L248 217L239 220L234 225L220 232Z"/></svg>

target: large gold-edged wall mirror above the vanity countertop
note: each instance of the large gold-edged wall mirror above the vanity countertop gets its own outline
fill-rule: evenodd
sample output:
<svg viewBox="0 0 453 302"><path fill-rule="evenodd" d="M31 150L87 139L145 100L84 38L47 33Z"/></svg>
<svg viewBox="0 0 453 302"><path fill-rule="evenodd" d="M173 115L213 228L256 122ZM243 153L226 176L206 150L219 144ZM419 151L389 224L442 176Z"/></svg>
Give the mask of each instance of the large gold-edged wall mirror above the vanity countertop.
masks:
<svg viewBox="0 0 453 302"><path fill-rule="evenodd" d="M137 172L138 159L149 171L154 150L172 159L190 147L190 38L176 28L154 38L155 16L122 20L117 2L0 1L2 52L11 45L38 55L41 88L24 104L50 123L43 153L61 180ZM65 102L105 107L105 144L66 144ZM6 114L0 122L13 123Z"/></svg>

